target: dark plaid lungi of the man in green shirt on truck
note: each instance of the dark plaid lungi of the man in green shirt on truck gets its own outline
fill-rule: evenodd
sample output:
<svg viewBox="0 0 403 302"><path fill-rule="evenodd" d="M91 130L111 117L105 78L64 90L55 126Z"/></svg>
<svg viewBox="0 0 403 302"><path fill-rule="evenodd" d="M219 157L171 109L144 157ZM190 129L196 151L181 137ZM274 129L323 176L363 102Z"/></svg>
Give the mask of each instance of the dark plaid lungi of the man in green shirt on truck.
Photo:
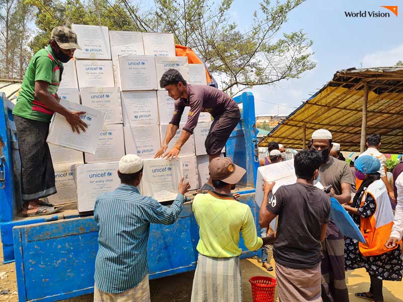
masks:
<svg viewBox="0 0 403 302"><path fill-rule="evenodd" d="M21 158L23 200L43 198L56 193L54 170L46 142L49 123L14 115Z"/></svg>

